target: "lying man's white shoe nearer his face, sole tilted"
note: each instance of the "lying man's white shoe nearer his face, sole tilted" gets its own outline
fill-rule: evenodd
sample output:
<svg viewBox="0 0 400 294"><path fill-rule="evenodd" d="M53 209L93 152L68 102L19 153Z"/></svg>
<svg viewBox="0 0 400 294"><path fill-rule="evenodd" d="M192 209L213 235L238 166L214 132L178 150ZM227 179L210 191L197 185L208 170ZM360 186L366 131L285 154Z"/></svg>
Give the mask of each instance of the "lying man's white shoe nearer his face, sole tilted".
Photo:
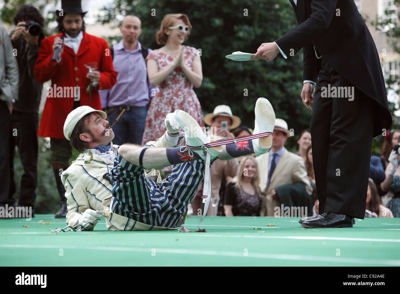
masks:
<svg viewBox="0 0 400 294"><path fill-rule="evenodd" d="M207 150L204 147L200 150L192 149L191 147L204 146L204 144L209 143L210 136L206 136L198 122L183 110L175 110L174 116L185 132L186 146L188 146L192 152L199 154L203 160L206 160L206 152L210 154L211 160L222 152L221 146L208 148Z"/></svg>

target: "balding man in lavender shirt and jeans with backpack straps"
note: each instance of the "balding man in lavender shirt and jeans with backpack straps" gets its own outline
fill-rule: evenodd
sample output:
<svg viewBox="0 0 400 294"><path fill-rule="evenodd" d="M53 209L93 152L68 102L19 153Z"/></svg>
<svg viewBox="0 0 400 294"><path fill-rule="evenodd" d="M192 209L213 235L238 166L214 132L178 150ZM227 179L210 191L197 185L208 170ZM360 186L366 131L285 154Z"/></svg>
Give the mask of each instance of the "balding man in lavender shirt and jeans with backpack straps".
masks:
<svg viewBox="0 0 400 294"><path fill-rule="evenodd" d="M116 120L125 109L118 124L113 127L114 144L141 144L146 122L150 97L155 96L158 88L153 88L147 78L144 56L151 52L142 52L138 41L142 33L140 19L129 15L120 26L122 40L112 48L114 70L118 72L117 83L108 90L100 90L102 108L109 121Z"/></svg>

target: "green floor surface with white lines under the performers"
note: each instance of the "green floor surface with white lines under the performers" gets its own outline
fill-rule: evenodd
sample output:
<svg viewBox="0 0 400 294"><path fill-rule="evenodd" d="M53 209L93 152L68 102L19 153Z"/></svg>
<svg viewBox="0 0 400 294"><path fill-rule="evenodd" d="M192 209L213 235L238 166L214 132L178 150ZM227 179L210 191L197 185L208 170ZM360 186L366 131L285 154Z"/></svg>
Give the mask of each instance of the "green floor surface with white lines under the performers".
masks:
<svg viewBox="0 0 400 294"><path fill-rule="evenodd" d="M400 266L400 218L304 229L298 218L217 216L206 233L110 232L103 218L92 232L50 232L59 220L0 220L0 266Z"/></svg>

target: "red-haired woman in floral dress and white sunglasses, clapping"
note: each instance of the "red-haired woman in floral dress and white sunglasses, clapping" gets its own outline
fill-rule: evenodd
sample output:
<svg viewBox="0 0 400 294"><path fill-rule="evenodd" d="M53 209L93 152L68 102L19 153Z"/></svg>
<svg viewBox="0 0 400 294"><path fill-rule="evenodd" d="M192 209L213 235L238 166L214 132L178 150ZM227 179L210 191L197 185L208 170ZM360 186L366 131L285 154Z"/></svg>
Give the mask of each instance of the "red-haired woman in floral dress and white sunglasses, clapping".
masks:
<svg viewBox="0 0 400 294"><path fill-rule="evenodd" d="M142 143L155 141L165 132L165 116L181 109L190 114L200 126L204 118L193 86L200 87L203 74L198 50L182 45L192 25L186 14L167 14L156 33L160 49L146 58L150 83L160 88L152 99L147 113Z"/></svg>

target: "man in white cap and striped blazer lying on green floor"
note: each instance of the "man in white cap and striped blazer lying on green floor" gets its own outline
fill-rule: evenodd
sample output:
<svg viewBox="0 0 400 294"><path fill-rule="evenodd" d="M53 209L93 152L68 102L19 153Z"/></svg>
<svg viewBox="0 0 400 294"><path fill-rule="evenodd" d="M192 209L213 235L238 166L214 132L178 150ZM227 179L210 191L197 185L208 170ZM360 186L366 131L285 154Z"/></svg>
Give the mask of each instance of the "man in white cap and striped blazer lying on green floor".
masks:
<svg viewBox="0 0 400 294"><path fill-rule="evenodd" d="M257 138L200 148L210 143L210 136L204 134L189 114L176 110L167 115L167 132L157 142L149 142L144 147L133 144L116 147L112 146L112 129L104 120L104 112L88 108L73 110L64 125L64 135L74 148L84 152L62 173L68 204L67 224L94 221L94 226L96 218L101 217L98 210L104 207L109 230L178 228L184 223L188 204L204 179L207 153L212 164L216 158L229 160L246 154L260 155L270 149L275 114L265 98L257 100L255 117L253 136L260 135ZM186 146L176 147L181 143L181 128ZM248 148L240 148L243 144ZM114 167L109 172L111 186L103 175L113 160ZM174 165L172 173L161 181L154 169L170 165ZM150 169L152 172L146 173Z"/></svg>

